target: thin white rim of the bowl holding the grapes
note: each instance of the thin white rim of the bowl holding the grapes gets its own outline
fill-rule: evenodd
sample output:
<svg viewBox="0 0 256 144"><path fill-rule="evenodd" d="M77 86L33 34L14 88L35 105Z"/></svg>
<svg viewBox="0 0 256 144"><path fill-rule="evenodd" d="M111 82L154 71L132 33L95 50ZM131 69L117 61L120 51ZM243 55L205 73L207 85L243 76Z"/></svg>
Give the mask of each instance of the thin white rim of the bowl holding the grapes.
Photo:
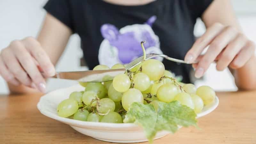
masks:
<svg viewBox="0 0 256 144"><path fill-rule="evenodd" d="M42 104L44 104L44 102L43 102L44 99L48 100L47 98L49 97L49 95L52 95L53 93L58 92L58 91L70 89L75 86L77 86L77 85L74 85L74 86L71 86L68 88L57 89L57 90L54 90L52 92L49 92L49 93L46 93L45 95L43 95L40 98L39 102L37 103L37 108L40 111L40 113L42 113L44 116L50 117L50 118L58 120L60 122L63 122L63 123L69 124L69 125L80 126L80 127L88 127L88 126L95 127L95 128L96 127L105 127L105 128L138 128L139 127L139 125L134 124L134 123L88 122L88 121L80 121L80 120L74 120L74 119L70 119L70 118L60 117L60 116L50 112L49 110L47 110L47 108L44 108L44 106L42 105ZM198 113L196 118L199 118L199 117L202 117L202 116L205 116L205 115L211 113L214 109L217 108L218 105L219 105L219 98L216 96L215 101L211 104L211 106L207 110L205 110L201 113Z"/></svg>

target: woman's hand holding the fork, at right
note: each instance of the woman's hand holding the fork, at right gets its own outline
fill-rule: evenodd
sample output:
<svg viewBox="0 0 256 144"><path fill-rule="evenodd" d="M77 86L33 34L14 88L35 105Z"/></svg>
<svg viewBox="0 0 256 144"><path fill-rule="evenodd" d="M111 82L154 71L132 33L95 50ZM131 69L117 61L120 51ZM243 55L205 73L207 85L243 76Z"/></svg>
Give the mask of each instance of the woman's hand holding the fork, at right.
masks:
<svg viewBox="0 0 256 144"><path fill-rule="evenodd" d="M200 55L208 45L207 52ZM217 61L216 68L220 71L226 67L237 69L243 67L254 54L255 44L236 27L215 23L196 40L187 52L185 61L188 63L199 61L193 64L193 67L196 68L195 76L199 78L203 76L213 61Z"/></svg>

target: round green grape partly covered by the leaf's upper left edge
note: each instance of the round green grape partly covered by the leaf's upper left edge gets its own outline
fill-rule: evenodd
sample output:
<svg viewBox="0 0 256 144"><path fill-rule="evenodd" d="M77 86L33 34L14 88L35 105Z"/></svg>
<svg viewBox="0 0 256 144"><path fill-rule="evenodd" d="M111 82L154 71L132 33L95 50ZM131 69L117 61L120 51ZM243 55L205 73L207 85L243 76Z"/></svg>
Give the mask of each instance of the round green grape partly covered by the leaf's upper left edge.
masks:
<svg viewBox="0 0 256 144"><path fill-rule="evenodd" d="M140 102L143 103L143 95L142 93L137 89L129 89L128 91L124 92L122 97L122 106L123 108L128 111L130 108L130 105L133 102Z"/></svg>

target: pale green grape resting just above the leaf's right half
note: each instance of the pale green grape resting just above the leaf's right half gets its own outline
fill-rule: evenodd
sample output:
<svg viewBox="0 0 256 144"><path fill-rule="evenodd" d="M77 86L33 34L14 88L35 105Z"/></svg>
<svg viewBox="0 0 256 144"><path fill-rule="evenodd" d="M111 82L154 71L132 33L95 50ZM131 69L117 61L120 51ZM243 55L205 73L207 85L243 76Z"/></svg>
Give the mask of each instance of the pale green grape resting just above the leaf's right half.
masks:
<svg viewBox="0 0 256 144"><path fill-rule="evenodd" d="M180 92L180 93L178 93L178 94L175 96L175 99L174 99L174 100L180 101L180 103L181 103L182 105L186 105L186 106L188 106L189 108L192 108L192 109L195 108L194 102L193 102L191 96L190 96L187 92Z"/></svg>

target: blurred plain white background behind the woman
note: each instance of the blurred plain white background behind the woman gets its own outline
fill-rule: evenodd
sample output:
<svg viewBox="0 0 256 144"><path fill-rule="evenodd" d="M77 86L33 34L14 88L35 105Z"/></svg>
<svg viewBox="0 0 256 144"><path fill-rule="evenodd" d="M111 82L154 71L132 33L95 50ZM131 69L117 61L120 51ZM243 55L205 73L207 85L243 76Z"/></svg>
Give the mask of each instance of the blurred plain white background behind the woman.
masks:
<svg viewBox="0 0 256 144"><path fill-rule="evenodd" d="M0 50L14 39L26 36L36 36L44 19L45 11L42 8L47 0L0 0ZM256 0L233 0L238 20L245 34L256 42ZM198 22L195 35L204 33L204 25ZM57 71L84 70L79 66L80 50L79 36L73 35L68 46L56 66ZM67 87L76 84L73 81L54 80L48 81L48 90ZM207 84L215 90L236 90L233 77L228 70L217 72L212 65L206 72L204 81L197 81L196 85ZM0 93L7 93L8 89L0 77Z"/></svg>

